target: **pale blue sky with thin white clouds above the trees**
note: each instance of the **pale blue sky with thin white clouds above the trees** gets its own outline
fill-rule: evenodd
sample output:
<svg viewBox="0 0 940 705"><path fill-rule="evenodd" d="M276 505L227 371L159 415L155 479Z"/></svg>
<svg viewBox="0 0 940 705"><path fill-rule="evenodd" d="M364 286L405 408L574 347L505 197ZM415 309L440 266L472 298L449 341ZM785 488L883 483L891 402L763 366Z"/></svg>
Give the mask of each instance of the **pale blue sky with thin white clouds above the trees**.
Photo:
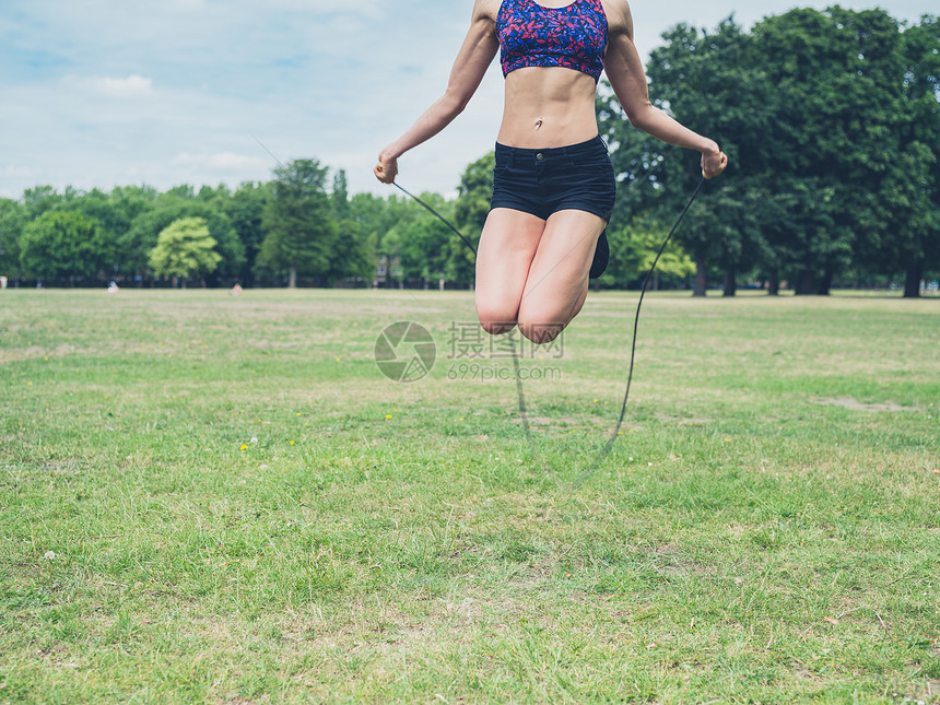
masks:
<svg viewBox="0 0 940 705"><path fill-rule="evenodd" d="M678 22L751 26L829 2L631 3L645 57ZM902 20L936 0L844 1ZM444 90L472 0L2 0L0 196L52 185L233 187L266 180L273 158L344 168L375 183L378 151ZM410 190L453 193L492 149L503 79L494 64L448 130L401 160Z"/></svg>

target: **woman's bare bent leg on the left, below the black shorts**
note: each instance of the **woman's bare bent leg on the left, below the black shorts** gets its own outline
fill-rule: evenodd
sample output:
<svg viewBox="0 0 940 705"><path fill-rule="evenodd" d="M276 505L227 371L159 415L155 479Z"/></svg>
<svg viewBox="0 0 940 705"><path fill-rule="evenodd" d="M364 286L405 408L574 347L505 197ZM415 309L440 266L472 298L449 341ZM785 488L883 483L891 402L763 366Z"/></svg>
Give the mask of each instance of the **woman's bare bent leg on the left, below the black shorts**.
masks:
<svg viewBox="0 0 940 705"><path fill-rule="evenodd" d="M477 252L477 316L487 333L516 326L529 268L545 221L508 208L490 211Z"/></svg>

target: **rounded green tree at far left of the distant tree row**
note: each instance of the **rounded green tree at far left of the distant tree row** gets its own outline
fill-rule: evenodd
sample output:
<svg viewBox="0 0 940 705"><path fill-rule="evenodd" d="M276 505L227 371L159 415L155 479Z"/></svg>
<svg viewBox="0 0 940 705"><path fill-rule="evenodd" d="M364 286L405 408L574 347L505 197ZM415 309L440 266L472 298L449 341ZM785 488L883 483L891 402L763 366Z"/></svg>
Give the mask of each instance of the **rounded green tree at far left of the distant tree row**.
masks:
<svg viewBox="0 0 940 705"><path fill-rule="evenodd" d="M26 225L20 240L26 275L71 285L103 272L113 257L97 222L77 211L43 213Z"/></svg>

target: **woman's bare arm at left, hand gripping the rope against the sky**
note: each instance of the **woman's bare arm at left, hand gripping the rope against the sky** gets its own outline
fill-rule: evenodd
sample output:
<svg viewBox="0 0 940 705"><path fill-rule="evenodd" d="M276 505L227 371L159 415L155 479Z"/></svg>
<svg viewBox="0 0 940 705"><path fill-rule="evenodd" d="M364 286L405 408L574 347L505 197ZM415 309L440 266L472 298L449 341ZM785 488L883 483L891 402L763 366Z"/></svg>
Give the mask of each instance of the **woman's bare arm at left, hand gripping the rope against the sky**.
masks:
<svg viewBox="0 0 940 705"><path fill-rule="evenodd" d="M395 181L398 157L408 150L430 140L456 118L480 86L486 69L500 48L494 33L492 0L477 0L467 38L450 70L447 90L400 138L386 146L378 156L375 176L384 184Z"/></svg>

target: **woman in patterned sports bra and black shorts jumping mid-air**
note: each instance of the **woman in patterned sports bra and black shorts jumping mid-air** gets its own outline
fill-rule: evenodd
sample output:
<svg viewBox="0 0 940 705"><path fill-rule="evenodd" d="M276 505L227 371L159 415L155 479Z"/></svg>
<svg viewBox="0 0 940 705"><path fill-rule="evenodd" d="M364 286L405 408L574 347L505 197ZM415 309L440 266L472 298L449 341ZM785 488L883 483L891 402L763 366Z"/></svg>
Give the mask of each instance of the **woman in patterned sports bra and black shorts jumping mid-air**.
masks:
<svg viewBox="0 0 940 705"><path fill-rule="evenodd" d="M589 277L607 268L616 183L595 116L601 71L631 124L702 152L704 176L728 160L714 140L650 104L626 0L475 0L447 91L381 151L378 180L393 183L398 157L463 110L497 49L506 92L477 257L477 315L492 334L518 325L529 340L549 342L584 306Z"/></svg>

